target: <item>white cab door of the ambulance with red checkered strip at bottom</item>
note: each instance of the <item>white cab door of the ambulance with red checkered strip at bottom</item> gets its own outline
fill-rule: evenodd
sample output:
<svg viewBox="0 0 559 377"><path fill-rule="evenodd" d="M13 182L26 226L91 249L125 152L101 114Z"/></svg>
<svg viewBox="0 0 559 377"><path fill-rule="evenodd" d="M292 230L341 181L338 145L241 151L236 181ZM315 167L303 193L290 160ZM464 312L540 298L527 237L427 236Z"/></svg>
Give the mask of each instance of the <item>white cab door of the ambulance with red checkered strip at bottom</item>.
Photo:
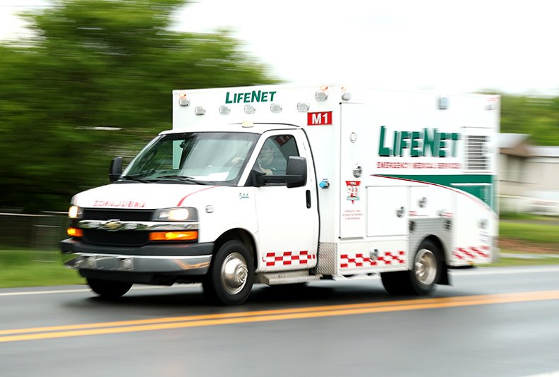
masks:
<svg viewBox="0 0 559 377"><path fill-rule="evenodd" d="M270 153L272 161L270 161ZM305 157L307 180L287 188L285 181L255 187L259 270L302 270L316 265L318 203L313 161L303 131L270 131L260 138L252 169L285 175L289 156Z"/></svg>

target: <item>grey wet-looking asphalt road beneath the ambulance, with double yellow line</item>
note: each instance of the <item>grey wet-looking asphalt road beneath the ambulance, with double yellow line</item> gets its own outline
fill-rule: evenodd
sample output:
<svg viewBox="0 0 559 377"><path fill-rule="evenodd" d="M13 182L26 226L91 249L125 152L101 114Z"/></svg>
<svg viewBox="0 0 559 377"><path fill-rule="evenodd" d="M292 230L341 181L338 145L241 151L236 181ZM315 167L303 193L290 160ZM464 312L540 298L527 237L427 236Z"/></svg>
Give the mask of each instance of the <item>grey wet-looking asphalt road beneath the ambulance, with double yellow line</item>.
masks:
<svg viewBox="0 0 559 377"><path fill-rule="evenodd" d="M81 286L0 289L0 376L559 373L559 267L452 280L428 298L390 297L378 278L259 285L234 308L198 286L113 302Z"/></svg>

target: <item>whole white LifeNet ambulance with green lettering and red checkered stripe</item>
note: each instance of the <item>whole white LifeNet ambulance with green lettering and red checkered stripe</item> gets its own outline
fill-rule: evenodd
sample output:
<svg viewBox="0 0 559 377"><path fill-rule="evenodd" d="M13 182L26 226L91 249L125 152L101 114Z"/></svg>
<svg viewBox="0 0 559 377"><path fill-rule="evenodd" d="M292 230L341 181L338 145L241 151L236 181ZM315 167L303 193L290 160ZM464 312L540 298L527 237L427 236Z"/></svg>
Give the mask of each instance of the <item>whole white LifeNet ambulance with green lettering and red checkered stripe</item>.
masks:
<svg viewBox="0 0 559 377"><path fill-rule="evenodd" d="M265 85L174 90L173 129L71 201L68 267L102 297L380 274L428 294L495 253L500 98Z"/></svg>

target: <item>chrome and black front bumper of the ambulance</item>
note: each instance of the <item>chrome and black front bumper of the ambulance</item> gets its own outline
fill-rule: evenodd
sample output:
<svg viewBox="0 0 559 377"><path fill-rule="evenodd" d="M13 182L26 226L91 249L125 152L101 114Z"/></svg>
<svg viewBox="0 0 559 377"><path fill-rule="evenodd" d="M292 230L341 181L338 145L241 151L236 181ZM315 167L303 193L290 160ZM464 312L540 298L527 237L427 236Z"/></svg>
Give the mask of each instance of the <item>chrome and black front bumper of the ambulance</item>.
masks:
<svg viewBox="0 0 559 377"><path fill-rule="evenodd" d="M212 242L150 244L139 247L97 246L76 239L60 242L64 265L82 275L96 271L150 275L205 275L212 261ZM119 274L121 275L121 274Z"/></svg>

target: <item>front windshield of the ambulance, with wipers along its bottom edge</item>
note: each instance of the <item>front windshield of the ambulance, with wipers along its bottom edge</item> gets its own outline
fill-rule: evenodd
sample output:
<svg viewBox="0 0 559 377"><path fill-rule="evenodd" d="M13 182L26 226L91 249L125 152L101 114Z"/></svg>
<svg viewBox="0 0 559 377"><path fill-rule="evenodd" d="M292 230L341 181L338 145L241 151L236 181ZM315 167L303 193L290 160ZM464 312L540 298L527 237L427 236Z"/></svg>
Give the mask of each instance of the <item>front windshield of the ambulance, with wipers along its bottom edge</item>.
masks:
<svg viewBox="0 0 559 377"><path fill-rule="evenodd" d="M258 140L255 133L198 132L157 136L121 179L236 185Z"/></svg>

